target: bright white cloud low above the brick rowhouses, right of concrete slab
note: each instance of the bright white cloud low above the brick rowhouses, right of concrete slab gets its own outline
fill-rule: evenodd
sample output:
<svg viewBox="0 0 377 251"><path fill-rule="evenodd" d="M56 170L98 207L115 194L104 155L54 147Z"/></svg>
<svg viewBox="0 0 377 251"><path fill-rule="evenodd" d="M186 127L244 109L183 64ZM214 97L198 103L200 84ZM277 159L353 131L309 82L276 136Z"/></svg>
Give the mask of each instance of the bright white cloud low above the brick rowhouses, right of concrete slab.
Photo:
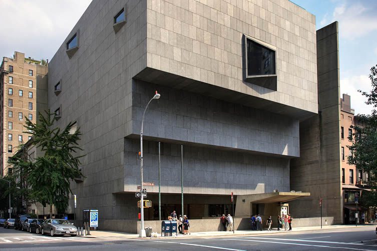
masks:
<svg viewBox="0 0 377 251"><path fill-rule="evenodd" d="M367 75L357 75L340 79L340 95L347 93L351 96L351 107L355 110L355 114L370 114L371 105L365 104L366 98L357 92L369 91L371 89L370 79Z"/></svg>

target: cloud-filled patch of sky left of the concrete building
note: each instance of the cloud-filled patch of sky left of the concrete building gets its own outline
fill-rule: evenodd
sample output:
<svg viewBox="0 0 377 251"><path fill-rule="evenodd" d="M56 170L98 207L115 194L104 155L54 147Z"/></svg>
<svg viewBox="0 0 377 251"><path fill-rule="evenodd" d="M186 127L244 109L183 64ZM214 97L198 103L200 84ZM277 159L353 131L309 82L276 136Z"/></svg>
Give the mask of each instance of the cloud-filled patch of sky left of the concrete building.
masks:
<svg viewBox="0 0 377 251"><path fill-rule="evenodd" d="M0 57L52 58L91 0L0 0Z"/></svg>

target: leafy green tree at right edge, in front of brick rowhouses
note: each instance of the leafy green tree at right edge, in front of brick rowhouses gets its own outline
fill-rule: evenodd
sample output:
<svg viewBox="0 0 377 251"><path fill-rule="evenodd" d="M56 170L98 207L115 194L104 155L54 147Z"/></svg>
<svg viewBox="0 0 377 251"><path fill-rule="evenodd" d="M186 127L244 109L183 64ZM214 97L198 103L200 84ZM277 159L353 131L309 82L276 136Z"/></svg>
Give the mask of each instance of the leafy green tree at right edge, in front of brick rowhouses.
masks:
<svg viewBox="0 0 377 251"><path fill-rule="evenodd" d="M370 192L363 192L362 202L366 206L377 206L377 65L370 69L370 92L358 90L366 97L366 104L372 105L371 114L357 115L357 123L353 126L354 140L348 146L352 155L348 163L355 165L363 172L368 172ZM351 138L349 138L351 139Z"/></svg>

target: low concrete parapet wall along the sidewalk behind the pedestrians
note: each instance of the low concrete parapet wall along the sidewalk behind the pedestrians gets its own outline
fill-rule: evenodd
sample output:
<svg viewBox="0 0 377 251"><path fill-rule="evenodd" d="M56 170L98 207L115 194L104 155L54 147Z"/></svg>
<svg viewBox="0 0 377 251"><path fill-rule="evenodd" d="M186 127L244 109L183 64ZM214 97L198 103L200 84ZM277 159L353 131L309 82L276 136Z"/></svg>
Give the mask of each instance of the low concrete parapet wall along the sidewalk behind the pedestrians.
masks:
<svg viewBox="0 0 377 251"><path fill-rule="evenodd" d="M292 220L292 228L304 227L304 226L318 226L320 225L320 217L313 218L294 218ZM264 220L264 219L263 219ZM323 217L322 224L333 224L333 217ZM191 232L205 232L205 231L220 231L222 224L219 218L213 219L190 219L190 231ZM272 221L276 221L272 219ZM263 221L264 223L264 221ZM161 221L159 220L147 220L144 222L145 227L152 227L153 232L161 233ZM266 228L265 223L263 227ZM274 226L276 227L276 226ZM235 230L247 230L251 229L250 218L234 218ZM99 230L113 230L121 232L138 233L140 230L140 221L138 220L104 220L100 222Z"/></svg>

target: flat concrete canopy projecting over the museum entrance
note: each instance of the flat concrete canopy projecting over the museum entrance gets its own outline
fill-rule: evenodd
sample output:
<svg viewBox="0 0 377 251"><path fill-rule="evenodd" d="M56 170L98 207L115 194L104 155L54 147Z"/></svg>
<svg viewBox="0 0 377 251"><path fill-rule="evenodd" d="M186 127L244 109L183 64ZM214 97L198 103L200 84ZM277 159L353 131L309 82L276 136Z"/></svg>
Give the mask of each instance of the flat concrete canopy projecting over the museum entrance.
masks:
<svg viewBox="0 0 377 251"><path fill-rule="evenodd" d="M310 196L310 192L277 191L243 195L252 203L283 203L296 198ZM242 197L243 197L242 196Z"/></svg>

